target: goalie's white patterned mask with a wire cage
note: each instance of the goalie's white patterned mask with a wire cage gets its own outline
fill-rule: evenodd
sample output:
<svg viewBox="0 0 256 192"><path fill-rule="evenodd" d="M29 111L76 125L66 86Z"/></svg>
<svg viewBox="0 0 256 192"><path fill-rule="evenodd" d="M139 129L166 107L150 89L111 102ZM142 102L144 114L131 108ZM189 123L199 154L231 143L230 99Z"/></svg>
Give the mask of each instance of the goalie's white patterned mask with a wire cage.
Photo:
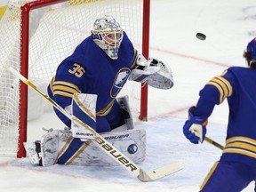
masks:
<svg viewBox="0 0 256 192"><path fill-rule="evenodd" d="M122 43L123 36L123 29L112 17L100 18L95 20L93 24L93 41L113 60L118 58L118 49Z"/></svg>

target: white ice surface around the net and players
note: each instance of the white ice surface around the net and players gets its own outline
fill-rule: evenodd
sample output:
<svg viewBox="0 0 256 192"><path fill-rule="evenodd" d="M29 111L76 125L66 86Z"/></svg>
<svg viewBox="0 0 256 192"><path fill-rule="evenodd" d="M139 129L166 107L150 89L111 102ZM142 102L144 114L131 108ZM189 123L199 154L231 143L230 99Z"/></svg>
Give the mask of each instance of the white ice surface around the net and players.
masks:
<svg viewBox="0 0 256 192"><path fill-rule="evenodd" d="M121 166L45 168L32 166L26 158L0 157L0 191L198 191L221 150L206 142L191 144L182 125L208 80L229 66L245 65L244 48L256 36L255 12L255 0L151 0L150 56L171 65L175 85L169 91L149 89L148 122L136 123L147 130L148 141L146 160L139 165L150 170L180 161L183 170L143 183ZM196 32L206 40L196 39ZM28 140L38 139L41 128L53 121L48 114L31 122ZM225 101L209 118L207 136L224 145L227 121ZM244 191L253 188L251 183Z"/></svg>

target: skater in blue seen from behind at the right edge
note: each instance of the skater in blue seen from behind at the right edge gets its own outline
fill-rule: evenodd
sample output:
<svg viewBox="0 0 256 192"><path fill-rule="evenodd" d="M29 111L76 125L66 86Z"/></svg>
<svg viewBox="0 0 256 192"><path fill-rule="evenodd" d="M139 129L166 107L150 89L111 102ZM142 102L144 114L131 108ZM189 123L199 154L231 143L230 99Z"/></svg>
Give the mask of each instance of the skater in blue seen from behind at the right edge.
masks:
<svg viewBox="0 0 256 192"><path fill-rule="evenodd" d="M214 106L228 100L226 146L200 191L238 192L256 180L256 38L247 45L244 58L249 68L231 67L212 78L200 91L196 107L188 110L183 132L197 144L204 141Z"/></svg>

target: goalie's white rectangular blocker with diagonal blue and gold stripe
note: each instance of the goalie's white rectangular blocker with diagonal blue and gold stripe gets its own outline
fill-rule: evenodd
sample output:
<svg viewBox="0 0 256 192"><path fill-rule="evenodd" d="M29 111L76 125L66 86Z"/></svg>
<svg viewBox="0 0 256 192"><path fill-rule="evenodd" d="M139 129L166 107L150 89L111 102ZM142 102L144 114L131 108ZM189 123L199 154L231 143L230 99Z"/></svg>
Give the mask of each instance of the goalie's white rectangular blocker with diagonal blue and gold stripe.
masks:
<svg viewBox="0 0 256 192"><path fill-rule="evenodd" d="M71 132L74 138L94 140L95 134L86 127L96 130L96 100L96 94L74 94L71 104Z"/></svg>

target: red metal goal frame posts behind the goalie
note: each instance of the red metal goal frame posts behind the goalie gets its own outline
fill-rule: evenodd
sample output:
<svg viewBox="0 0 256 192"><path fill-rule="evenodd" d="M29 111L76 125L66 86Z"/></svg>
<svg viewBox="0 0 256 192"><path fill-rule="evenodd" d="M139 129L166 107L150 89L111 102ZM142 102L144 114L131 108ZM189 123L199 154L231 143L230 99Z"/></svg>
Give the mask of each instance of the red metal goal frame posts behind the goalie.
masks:
<svg viewBox="0 0 256 192"><path fill-rule="evenodd" d="M52 4L60 4L68 0L40 0L24 4L21 9L20 20L20 74L28 78L28 39L29 39L29 12ZM143 0L143 23L142 23L142 54L148 58L149 52L149 20L150 0ZM141 121L148 120L148 84L140 85L140 116ZM19 149L17 157L25 157L26 151L23 142L27 141L28 127L28 86L20 83L20 123L19 123Z"/></svg>

